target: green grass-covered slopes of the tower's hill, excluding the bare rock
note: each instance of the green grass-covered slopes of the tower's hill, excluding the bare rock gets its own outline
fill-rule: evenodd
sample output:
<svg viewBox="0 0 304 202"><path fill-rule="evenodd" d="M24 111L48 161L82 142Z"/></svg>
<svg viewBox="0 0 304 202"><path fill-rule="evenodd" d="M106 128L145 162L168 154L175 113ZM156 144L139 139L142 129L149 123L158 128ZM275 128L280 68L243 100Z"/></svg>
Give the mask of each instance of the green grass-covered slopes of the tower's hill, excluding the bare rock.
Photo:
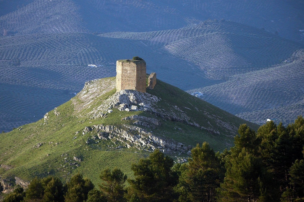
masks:
<svg viewBox="0 0 304 202"><path fill-rule="evenodd" d="M60 113L58 116L52 110L46 121L41 119L9 133L0 134L0 144L2 145L0 164L6 165L7 168L7 170L3 167L0 168L2 179L12 180L14 176L17 176L23 180L30 180L34 176L43 177L50 174L60 178L69 178L73 173L79 171L85 173L85 176L90 177L96 183L102 168L115 166L119 166L123 172L131 176L130 162L136 162L139 158L147 156L147 152L135 147L115 149L118 145L124 146L124 143L114 139L86 143L86 140L94 136L95 133L93 131L84 135L81 133L85 126L96 124L132 125L128 120L122 120L123 117L131 115L149 117L151 115L144 111L126 112L113 109L114 111L104 118L90 119L88 116L84 116L86 111L99 106L115 93L115 77L99 79L95 81L94 85L95 92L99 94L98 96L94 94L89 103L83 103L80 99L83 96L91 96L92 88L85 88L72 100L57 107L57 115ZM162 98L157 103L157 108L165 111L169 110L171 105L177 106L192 121L219 131L219 134L210 133L208 130L184 123L161 120L160 127L148 129L156 136L192 146L208 141L215 150L223 150L232 145L233 135L236 134L241 123L247 123L255 130L258 127L159 80L156 87L153 90L148 90L148 93ZM86 106L86 108L79 111L78 105ZM41 145L37 146L39 143ZM178 152L174 154L174 156L183 155L186 154ZM74 156L80 157L82 161L76 162L73 160ZM75 164L70 165L70 163Z"/></svg>

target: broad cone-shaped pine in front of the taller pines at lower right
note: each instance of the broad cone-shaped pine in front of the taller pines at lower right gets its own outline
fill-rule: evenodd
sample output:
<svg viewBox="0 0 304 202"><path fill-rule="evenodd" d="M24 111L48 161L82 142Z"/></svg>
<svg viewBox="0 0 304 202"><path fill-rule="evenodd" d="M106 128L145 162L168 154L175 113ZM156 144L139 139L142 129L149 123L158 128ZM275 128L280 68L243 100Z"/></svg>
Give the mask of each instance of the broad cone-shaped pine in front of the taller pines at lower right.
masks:
<svg viewBox="0 0 304 202"><path fill-rule="evenodd" d="M245 148L237 157L230 159L224 182L219 189L220 201L270 201L269 174L261 158Z"/></svg>

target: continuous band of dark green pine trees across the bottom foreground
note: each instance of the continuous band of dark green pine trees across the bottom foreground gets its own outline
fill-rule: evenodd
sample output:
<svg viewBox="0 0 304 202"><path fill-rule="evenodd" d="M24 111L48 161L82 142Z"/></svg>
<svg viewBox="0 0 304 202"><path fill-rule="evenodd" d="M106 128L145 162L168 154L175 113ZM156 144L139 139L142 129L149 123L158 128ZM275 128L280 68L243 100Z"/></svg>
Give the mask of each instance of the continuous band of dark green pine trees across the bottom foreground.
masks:
<svg viewBox="0 0 304 202"><path fill-rule="evenodd" d="M118 168L102 170L98 188L79 173L65 184L35 178L4 201L304 201L303 117L287 127L270 121L257 133L243 124L238 133L223 153L197 145L188 163L155 150L132 165L134 179Z"/></svg>

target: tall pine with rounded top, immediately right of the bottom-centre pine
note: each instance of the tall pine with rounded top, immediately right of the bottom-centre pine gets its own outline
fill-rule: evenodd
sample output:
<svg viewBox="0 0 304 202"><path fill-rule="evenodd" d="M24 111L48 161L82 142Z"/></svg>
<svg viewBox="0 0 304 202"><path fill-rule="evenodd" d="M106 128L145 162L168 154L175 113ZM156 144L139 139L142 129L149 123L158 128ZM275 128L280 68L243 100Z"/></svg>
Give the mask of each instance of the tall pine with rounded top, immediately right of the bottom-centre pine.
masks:
<svg viewBox="0 0 304 202"><path fill-rule="evenodd" d="M216 188L224 178L220 160L204 142L191 150L189 163L179 179L180 201L214 201Z"/></svg>

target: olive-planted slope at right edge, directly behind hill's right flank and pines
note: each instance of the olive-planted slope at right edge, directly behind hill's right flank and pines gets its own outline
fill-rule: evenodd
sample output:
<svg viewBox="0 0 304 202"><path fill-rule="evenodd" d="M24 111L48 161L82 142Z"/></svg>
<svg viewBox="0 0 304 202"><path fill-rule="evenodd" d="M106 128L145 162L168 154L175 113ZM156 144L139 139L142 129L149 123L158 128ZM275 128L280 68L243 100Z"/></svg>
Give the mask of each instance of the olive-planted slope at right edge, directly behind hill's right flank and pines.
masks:
<svg viewBox="0 0 304 202"><path fill-rule="evenodd" d="M288 124L303 114L303 66L301 50L280 65L236 75L192 92L202 91L204 100L246 120L264 123L270 118Z"/></svg>

